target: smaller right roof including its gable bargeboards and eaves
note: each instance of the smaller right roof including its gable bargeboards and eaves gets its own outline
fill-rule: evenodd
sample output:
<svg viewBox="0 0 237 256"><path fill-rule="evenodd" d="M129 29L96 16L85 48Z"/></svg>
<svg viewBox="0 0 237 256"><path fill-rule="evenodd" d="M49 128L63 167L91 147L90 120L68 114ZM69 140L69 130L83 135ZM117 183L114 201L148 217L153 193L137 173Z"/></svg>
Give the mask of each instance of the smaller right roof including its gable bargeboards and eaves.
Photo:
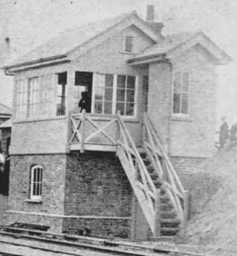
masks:
<svg viewBox="0 0 237 256"><path fill-rule="evenodd" d="M230 57L224 53L219 47L215 45L213 41L203 34L203 32L192 32L182 34L167 35L164 41L153 45L143 53L137 54L135 58L129 59L128 62L135 63L152 61L153 58L165 57L165 59L178 58L178 55L184 53L189 48L196 46L197 44L205 48L206 52L212 55L212 59L215 59L215 64L223 65L230 61Z"/></svg>

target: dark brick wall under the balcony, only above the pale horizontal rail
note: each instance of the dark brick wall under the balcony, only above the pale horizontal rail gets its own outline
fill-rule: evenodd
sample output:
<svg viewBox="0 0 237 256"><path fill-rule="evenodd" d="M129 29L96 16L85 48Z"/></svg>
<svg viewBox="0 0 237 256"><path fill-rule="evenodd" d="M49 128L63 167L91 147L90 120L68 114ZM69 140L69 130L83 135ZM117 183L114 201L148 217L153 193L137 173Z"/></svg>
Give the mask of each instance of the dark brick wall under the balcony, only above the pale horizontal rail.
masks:
<svg viewBox="0 0 237 256"><path fill-rule="evenodd" d="M115 153L67 155L65 215L131 215L132 188Z"/></svg>

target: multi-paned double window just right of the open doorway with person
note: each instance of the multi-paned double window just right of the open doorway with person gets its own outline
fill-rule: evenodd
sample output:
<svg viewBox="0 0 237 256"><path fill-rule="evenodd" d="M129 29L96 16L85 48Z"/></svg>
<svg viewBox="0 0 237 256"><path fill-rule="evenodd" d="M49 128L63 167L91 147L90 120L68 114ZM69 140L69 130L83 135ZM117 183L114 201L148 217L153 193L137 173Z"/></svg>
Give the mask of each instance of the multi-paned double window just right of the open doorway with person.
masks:
<svg viewBox="0 0 237 256"><path fill-rule="evenodd" d="M134 76L94 74L94 113L134 116L135 109Z"/></svg>

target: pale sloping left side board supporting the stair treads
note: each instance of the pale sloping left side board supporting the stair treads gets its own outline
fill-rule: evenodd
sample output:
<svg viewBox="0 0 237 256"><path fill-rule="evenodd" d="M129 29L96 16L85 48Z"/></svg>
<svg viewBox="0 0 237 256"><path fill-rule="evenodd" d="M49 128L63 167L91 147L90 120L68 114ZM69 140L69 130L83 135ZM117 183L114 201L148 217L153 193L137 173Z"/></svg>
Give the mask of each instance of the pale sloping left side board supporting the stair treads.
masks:
<svg viewBox="0 0 237 256"><path fill-rule="evenodd" d="M117 148L117 155L121 161L122 167L124 172L126 173L128 180L134 190L134 194L137 197L138 203L140 203L140 208L143 211L143 214L145 215L147 219L147 223L149 227L151 228L153 234L154 234L154 212L153 209L151 209L150 204L147 200L147 197L143 190L139 186L139 181L137 181L134 177L133 172L131 172L131 167L129 165L128 159L126 157L126 154L121 149L121 147L118 146Z"/></svg>

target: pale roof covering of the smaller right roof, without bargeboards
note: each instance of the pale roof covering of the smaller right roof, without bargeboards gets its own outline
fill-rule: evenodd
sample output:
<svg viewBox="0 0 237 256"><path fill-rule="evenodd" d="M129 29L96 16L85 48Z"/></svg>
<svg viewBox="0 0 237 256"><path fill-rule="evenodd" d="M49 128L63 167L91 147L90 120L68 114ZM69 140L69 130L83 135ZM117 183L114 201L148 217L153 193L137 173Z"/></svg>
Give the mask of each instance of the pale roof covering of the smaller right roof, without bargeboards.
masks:
<svg viewBox="0 0 237 256"><path fill-rule="evenodd" d="M202 31L193 31L166 35L165 40L153 45L152 47L149 47L143 53L137 54L133 59L129 59L128 62L133 62L138 59L153 58L154 56L159 56L162 54L164 56L168 55L169 53L174 52L179 47L184 46L189 41L192 41L193 39L196 39L198 37L200 38L200 36L204 39L204 41L207 42L206 46L209 44L209 47L213 48L212 52L218 54L218 58L225 59L226 62L231 60L228 55L222 52L219 47L216 47L215 44L210 41L209 38L205 34L203 34Z"/></svg>

